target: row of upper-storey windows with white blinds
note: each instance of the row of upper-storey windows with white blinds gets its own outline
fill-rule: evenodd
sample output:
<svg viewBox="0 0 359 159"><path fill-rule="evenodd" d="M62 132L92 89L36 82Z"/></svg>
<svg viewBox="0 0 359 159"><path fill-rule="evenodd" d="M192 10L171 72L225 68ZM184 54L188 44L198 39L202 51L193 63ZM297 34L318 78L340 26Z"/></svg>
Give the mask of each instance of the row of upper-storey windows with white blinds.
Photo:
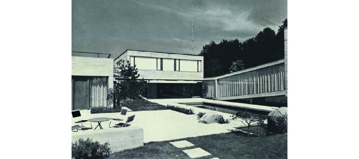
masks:
<svg viewBox="0 0 359 159"><path fill-rule="evenodd" d="M130 63L134 63L139 70L202 72L201 60L130 56Z"/></svg>

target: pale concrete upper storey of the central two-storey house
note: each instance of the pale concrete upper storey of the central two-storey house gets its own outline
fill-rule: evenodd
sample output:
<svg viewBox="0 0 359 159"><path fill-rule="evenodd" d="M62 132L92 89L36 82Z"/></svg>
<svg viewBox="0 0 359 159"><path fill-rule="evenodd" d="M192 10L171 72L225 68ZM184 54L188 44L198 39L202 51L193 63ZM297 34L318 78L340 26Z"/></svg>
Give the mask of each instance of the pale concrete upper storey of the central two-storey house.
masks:
<svg viewBox="0 0 359 159"><path fill-rule="evenodd" d="M120 67L122 60L136 64L139 79L203 80L203 56L126 50L114 60L114 67Z"/></svg>

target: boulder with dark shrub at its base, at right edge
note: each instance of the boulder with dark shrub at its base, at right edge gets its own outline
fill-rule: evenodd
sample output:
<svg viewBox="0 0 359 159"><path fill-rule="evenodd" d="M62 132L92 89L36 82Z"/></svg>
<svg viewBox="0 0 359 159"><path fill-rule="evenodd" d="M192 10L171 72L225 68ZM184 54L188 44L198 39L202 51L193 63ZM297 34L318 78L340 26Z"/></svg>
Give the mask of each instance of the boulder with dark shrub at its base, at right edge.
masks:
<svg viewBox="0 0 359 159"><path fill-rule="evenodd" d="M272 110L268 114L268 124L267 124L267 132L268 133L287 133L287 120L288 120L288 108L280 107L278 109ZM282 116L283 120L277 121L275 117Z"/></svg>

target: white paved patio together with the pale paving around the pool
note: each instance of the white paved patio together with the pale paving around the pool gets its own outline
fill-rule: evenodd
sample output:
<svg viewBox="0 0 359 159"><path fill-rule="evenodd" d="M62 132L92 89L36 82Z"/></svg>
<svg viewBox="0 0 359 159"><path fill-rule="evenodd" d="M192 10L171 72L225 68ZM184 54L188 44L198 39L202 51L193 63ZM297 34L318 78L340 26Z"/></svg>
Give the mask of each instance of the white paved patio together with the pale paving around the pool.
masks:
<svg viewBox="0 0 359 159"><path fill-rule="evenodd" d="M79 120L88 120L90 118L96 117L108 117L108 118L121 118L124 121L128 116L135 115L134 121L131 127L140 127L144 130L144 142L152 142L152 141L166 141L166 140L174 140L186 137L196 137L217 133L226 133L231 132L230 130L236 130L235 128L245 127L244 124L240 122L239 119L231 120L229 124L203 124L198 123L197 113L199 112L209 112L213 110L194 107L194 106L186 106L178 103L186 101L187 103L191 102L199 102L206 99L197 98L197 99L167 99L167 100L149 100L150 102L155 102L161 105L175 105L185 108L192 108L194 110L193 115L186 115L173 110L152 110L152 111L129 111L126 116L120 115L119 113L101 113L101 114L90 114L90 110L81 110L81 117L72 118L72 126L79 124L75 123ZM212 101L212 100L211 100ZM175 103L178 102L178 103ZM206 101L207 102L207 101ZM220 101L223 102L223 101ZM222 103L223 104L223 103ZM232 103L233 104L233 103ZM241 105L244 106L244 105ZM252 105L252 108L260 108L260 109L268 109L271 110L273 107L269 106L257 106ZM231 115L224 112L215 111L221 115L223 115L224 119L232 119ZM115 123L119 123L118 121L110 120L111 126ZM101 125L103 129L121 129L121 128L110 128L110 121L102 122ZM86 127L90 127L90 122L85 123ZM81 124L79 124L81 125ZM93 129L97 126L97 123L92 123ZM72 132L72 134L81 134L81 133L90 133L89 131L103 131L103 130L86 130L79 132ZM111 130L108 130L111 131Z"/></svg>

